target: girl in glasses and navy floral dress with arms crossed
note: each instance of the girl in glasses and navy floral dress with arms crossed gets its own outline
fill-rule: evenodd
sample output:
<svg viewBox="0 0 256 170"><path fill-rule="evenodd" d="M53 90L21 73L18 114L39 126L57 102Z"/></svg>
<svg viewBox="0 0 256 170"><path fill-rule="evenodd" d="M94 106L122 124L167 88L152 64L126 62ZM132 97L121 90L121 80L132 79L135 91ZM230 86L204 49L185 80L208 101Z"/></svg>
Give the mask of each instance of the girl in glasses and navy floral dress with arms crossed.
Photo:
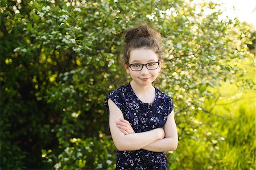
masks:
<svg viewBox="0 0 256 170"><path fill-rule="evenodd" d="M124 67L132 81L105 99L117 148L116 169L167 169L177 148L174 102L152 85L163 65L160 34L142 25L125 36Z"/></svg>

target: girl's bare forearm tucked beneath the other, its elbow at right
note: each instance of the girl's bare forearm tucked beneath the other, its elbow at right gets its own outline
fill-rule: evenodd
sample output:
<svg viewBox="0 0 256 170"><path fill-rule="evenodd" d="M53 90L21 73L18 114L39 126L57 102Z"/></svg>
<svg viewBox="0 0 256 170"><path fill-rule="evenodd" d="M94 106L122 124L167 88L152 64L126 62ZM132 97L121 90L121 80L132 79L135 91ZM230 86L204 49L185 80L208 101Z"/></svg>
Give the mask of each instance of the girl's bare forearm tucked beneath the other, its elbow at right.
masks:
<svg viewBox="0 0 256 170"><path fill-rule="evenodd" d="M152 152L164 152L164 151L174 151L177 148L177 140L174 138L168 137L164 139L156 140L143 147L143 150L152 151Z"/></svg>

